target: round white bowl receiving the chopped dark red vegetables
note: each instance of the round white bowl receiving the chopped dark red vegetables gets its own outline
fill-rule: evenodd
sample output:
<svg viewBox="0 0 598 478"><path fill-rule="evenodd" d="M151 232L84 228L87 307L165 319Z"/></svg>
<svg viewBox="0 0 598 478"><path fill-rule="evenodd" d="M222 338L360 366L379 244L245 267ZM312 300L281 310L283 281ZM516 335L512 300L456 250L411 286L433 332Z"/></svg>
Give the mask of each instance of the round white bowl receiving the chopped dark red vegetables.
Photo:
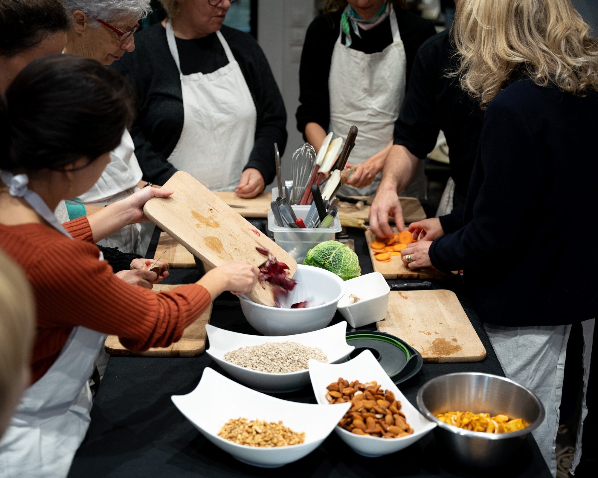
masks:
<svg viewBox="0 0 598 478"><path fill-rule="evenodd" d="M295 288L286 299L287 307L309 301L316 305L305 309L267 307L240 296L245 318L264 335L295 335L324 329L337 309L337 302L345 293L344 281L336 274L309 265L299 265L293 276Z"/></svg>

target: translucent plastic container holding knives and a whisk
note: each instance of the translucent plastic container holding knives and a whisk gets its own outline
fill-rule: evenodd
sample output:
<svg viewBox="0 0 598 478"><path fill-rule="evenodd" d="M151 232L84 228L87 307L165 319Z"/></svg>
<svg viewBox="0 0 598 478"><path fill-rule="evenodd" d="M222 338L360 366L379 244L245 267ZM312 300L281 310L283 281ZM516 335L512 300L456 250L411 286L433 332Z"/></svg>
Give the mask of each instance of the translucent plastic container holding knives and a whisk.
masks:
<svg viewBox="0 0 598 478"><path fill-rule="evenodd" d="M305 220L310 206L291 206L295 216ZM337 232L341 231L340 217L335 217L329 228L285 228L277 226L274 222L274 214L268 211L268 229L274 234L274 242L288 252L297 263L302 264L307 251L313 249L319 243L334 241Z"/></svg>

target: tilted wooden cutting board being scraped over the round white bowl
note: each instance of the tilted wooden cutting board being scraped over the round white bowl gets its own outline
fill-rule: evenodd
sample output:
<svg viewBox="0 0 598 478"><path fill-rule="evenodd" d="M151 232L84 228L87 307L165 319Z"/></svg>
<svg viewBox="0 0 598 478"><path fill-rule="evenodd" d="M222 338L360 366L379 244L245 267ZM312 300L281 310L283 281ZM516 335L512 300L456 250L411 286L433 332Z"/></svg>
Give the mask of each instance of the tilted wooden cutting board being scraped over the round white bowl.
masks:
<svg viewBox="0 0 598 478"><path fill-rule="evenodd" d="M145 204L145 215L209 267L234 261L259 267L266 257L255 248L263 247L289 266L291 277L297 271L297 262L289 253L190 174L177 171L162 188L174 194L151 198ZM257 304L274 307L270 284L263 288L257 283L246 296Z"/></svg>

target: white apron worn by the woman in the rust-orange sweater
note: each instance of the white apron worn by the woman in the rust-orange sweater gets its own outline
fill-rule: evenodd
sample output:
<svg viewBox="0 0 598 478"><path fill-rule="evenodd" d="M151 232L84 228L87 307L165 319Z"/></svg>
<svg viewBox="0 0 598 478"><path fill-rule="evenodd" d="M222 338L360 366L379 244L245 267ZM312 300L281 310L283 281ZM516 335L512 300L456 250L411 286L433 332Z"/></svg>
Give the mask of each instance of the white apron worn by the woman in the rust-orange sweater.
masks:
<svg viewBox="0 0 598 478"><path fill-rule="evenodd" d="M27 188L25 174L2 172L10 194L23 197L54 228L71 235L48 206ZM100 261L102 261L100 253ZM90 422L88 379L106 335L75 327L58 359L23 394L0 440L2 478L65 478Z"/></svg>

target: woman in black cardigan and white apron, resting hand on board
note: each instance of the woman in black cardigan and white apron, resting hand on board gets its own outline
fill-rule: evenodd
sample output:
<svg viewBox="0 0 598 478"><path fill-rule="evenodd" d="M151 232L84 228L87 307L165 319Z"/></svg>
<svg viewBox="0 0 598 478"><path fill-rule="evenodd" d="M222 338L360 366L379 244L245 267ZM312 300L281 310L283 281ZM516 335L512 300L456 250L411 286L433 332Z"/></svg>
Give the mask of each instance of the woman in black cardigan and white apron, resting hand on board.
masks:
<svg viewBox="0 0 598 478"><path fill-rule="evenodd" d="M177 170L212 191L254 197L275 176L286 112L263 51L223 26L228 0L161 0L169 18L143 30L115 68L135 84L131 134L147 179Z"/></svg>

